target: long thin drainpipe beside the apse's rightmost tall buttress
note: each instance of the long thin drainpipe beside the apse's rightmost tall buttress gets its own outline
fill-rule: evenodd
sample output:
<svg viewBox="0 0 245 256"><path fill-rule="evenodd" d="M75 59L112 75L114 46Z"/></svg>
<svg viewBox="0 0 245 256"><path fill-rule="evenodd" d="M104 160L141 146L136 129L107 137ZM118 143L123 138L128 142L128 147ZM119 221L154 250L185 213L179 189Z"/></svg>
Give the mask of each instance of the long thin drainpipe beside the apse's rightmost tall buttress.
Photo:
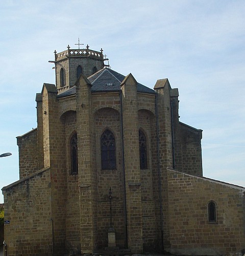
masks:
<svg viewBox="0 0 245 256"><path fill-rule="evenodd" d="M161 217L161 240L162 251L164 251L163 243L163 216L162 216L162 184L161 184L161 172L160 172L160 147L159 147L159 124L158 124L158 101L157 93L155 94L155 108L156 108L156 125L157 125L157 158L158 158L158 186L159 186L159 203L160 203L160 217Z"/></svg>

